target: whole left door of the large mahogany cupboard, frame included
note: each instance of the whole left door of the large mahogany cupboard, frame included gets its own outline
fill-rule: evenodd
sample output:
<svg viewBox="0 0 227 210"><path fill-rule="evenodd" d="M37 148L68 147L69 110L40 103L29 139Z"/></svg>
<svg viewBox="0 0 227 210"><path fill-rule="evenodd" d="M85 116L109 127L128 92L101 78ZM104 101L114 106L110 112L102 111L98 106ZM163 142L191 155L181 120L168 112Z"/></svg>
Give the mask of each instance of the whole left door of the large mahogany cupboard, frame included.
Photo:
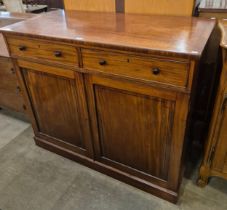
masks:
<svg viewBox="0 0 227 210"><path fill-rule="evenodd" d="M90 148L86 137L89 129L82 125L86 104L78 94L83 92L82 76L75 72L66 77L24 68L21 73L39 135L86 154Z"/></svg>

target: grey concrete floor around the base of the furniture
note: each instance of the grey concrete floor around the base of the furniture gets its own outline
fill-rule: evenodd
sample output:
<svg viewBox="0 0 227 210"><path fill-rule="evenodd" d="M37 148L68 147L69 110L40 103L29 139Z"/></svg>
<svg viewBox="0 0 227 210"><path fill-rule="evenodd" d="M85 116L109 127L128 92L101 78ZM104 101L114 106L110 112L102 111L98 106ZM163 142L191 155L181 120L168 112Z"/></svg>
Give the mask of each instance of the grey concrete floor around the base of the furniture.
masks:
<svg viewBox="0 0 227 210"><path fill-rule="evenodd" d="M201 189L195 180L183 180L173 205L35 146L31 126L0 111L1 210L227 209L227 181Z"/></svg>

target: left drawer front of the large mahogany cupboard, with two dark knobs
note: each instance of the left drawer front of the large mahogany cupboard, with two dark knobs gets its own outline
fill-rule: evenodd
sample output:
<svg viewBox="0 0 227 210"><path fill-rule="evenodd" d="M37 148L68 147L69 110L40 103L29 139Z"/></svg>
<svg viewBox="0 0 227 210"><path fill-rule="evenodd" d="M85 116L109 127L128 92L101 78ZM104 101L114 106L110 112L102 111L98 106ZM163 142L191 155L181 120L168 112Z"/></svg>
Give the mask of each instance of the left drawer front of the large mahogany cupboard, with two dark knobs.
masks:
<svg viewBox="0 0 227 210"><path fill-rule="evenodd" d="M74 46L21 37L7 37L7 41L13 56L45 59L49 62L78 66L78 53Z"/></svg>

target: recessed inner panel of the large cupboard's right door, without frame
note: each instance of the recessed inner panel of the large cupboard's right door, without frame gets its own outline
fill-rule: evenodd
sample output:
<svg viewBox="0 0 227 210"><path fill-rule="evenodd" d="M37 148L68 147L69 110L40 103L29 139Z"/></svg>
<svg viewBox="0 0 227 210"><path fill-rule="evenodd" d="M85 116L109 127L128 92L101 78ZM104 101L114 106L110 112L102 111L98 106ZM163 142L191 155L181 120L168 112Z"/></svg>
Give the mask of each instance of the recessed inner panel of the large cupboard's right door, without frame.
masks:
<svg viewBox="0 0 227 210"><path fill-rule="evenodd" d="M167 180L174 102L94 87L100 156Z"/></svg>

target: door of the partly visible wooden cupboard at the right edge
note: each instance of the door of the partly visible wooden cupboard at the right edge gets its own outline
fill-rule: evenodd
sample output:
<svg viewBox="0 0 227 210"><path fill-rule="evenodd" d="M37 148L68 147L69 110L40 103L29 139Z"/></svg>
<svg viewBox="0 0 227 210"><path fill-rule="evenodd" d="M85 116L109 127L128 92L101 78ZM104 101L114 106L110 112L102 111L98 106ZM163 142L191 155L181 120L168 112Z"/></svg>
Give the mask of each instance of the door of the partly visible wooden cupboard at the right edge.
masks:
<svg viewBox="0 0 227 210"><path fill-rule="evenodd" d="M227 99L225 99L222 106L220 121L217 127L215 138L218 142L212 168L227 174Z"/></svg>

